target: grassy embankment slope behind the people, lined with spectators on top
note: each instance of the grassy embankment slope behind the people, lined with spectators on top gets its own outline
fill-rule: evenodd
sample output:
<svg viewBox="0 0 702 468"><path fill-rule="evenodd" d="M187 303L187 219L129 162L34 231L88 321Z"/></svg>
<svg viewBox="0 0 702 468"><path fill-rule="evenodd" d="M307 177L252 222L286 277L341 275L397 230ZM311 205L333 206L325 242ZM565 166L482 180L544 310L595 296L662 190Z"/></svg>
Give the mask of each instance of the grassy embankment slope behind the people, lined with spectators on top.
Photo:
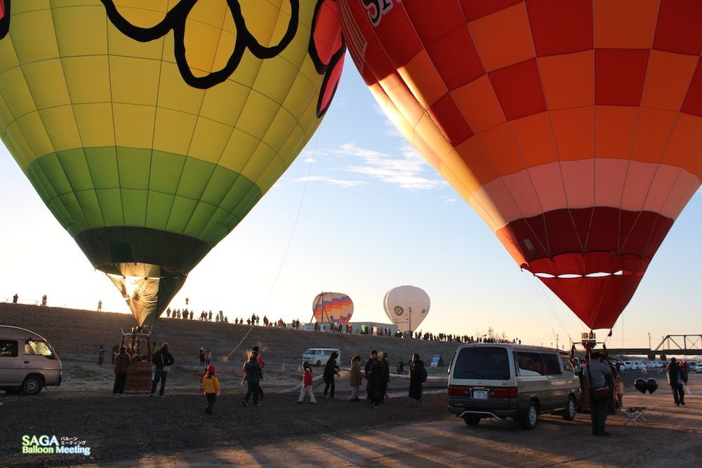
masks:
<svg viewBox="0 0 702 468"><path fill-rule="evenodd" d="M51 342L61 357L95 359L100 345L104 345L109 354L112 345L121 340L121 330L129 330L134 321L126 314L3 302L0 303L0 324L39 333ZM230 323L159 319L152 337L159 345L168 342L176 359L196 363L200 347L211 349L213 357L219 360L239 344L250 328ZM258 345L265 359L274 363L299 362L309 347L339 348L342 366L348 365L352 354L359 354L365 361L371 349L377 349L388 352L392 368L399 359L407 363L413 352L418 352L427 364L432 355L441 354L448 364L458 346L456 343L260 326L251 329L232 359L240 361L253 345Z"/></svg>

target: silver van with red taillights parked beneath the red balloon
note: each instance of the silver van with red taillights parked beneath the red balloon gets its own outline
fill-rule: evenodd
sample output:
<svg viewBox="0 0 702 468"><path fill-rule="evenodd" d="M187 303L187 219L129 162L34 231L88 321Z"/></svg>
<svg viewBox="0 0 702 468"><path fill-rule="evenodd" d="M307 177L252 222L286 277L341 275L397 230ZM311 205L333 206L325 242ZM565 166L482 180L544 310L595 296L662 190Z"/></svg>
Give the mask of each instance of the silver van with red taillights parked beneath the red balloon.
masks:
<svg viewBox="0 0 702 468"><path fill-rule="evenodd" d="M534 429L542 413L570 421L580 401L580 380L558 349L471 343L458 347L451 359L449 411L469 426L484 417L513 417Z"/></svg>

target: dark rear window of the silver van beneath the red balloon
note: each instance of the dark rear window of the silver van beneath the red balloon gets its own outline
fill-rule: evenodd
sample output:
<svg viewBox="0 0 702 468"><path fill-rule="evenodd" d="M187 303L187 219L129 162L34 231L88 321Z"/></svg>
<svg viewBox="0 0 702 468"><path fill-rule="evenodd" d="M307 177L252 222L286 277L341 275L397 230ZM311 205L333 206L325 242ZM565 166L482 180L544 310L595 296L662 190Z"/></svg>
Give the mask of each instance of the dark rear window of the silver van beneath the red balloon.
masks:
<svg viewBox="0 0 702 468"><path fill-rule="evenodd" d="M458 352L456 379L509 380L510 360L505 348L463 348Z"/></svg>

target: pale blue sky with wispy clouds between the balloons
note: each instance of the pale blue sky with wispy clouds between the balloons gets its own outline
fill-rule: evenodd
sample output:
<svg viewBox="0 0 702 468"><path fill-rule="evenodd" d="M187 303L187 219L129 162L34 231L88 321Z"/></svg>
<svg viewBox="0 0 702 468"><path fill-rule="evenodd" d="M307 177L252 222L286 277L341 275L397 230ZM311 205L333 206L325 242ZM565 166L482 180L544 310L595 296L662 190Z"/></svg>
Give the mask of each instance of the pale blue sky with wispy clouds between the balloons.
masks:
<svg viewBox="0 0 702 468"><path fill-rule="evenodd" d="M0 301L129 313L0 149ZM649 266L608 347L656 347L701 334L702 195L683 210ZM350 57L324 121L251 213L195 267L173 309L223 310L230 321L310 321L314 297L349 295L352 321L388 322L385 293L425 290L418 327L569 347L587 327L522 272L474 210L395 129ZM157 325L158 327L158 325ZM605 338L600 330L599 340ZM698 342L697 346L701 344Z"/></svg>

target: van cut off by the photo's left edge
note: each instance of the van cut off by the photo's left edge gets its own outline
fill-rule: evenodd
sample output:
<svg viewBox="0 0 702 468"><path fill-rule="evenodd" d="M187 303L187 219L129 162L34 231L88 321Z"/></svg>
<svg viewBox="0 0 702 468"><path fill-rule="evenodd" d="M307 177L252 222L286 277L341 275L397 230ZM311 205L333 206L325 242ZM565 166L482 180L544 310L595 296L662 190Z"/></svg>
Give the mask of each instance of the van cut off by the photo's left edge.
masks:
<svg viewBox="0 0 702 468"><path fill-rule="evenodd" d="M0 325L0 389L35 395L46 385L61 385L61 379L61 360L44 337Z"/></svg>

